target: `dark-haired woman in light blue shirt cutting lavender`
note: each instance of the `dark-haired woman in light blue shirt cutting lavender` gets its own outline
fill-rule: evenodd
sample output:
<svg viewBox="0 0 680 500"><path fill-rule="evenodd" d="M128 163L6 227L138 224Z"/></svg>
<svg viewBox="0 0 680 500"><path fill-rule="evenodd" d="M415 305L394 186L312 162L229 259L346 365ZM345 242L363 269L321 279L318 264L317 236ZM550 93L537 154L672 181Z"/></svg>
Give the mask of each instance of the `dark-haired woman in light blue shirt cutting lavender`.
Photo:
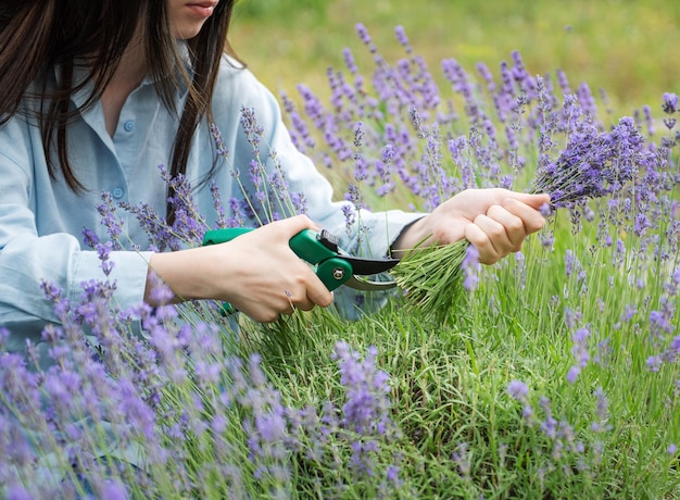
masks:
<svg viewBox="0 0 680 500"><path fill-rule="evenodd" d="M234 3L2 2L0 325L23 338L38 335L45 323L58 322L42 298L42 280L76 299L83 280L101 276L98 254L86 248L81 232L87 227L106 237L96 210L102 191L165 213L167 185L158 165L166 165L173 175L184 173L192 186L202 186L196 200L214 224L207 179L225 199L243 197L232 175L252 159L239 124L241 109L254 110L263 142L276 150L290 190L305 193L307 216L216 246L153 253L130 245L112 252L116 299L122 308L153 302L153 271L177 301L228 301L261 322L292 308L331 303L332 293L288 241L304 228L345 235L342 203L331 201L329 184L292 146L276 99L226 43ZM227 159L215 153L211 124L221 133ZM341 245L354 253L369 245L374 255L386 255L426 238L449 243L465 237L482 263L493 263L543 226L538 209L547 201L544 195L502 189L464 191L430 214L365 213L367 241L345 237ZM121 216L129 241L143 241L134 217Z"/></svg>

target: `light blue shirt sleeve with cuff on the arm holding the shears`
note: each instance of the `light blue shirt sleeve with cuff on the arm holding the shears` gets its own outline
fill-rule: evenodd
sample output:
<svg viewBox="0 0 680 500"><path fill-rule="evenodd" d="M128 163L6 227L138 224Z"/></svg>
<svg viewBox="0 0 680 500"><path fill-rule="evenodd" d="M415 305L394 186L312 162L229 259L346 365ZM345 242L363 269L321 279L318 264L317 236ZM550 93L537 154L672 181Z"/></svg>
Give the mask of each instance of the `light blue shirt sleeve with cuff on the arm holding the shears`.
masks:
<svg viewBox="0 0 680 500"><path fill-rule="evenodd" d="M77 303L84 282L104 278L98 253L84 250L75 235L38 230L37 204L42 202L42 191L49 199L52 183L35 134L20 117L0 128L0 325L12 334L10 348L14 342L18 349L27 337L39 340L46 324L59 323L42 283ZM149 252L111 253L114 267L109 278L125 285L115 292L122 309L141 303L149 258Z"/></svg>

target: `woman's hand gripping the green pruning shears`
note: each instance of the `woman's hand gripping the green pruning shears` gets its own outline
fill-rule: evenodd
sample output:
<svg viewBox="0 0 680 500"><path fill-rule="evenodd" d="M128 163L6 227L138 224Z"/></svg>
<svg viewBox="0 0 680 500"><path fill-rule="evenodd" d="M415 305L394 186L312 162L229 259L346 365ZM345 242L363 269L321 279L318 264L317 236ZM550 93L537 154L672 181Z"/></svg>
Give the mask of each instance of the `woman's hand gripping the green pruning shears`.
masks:
<svg viewBox="0 0 680 500"><path fill-rule="evenodd" d="M255 321L273 322L293 309L308 311L332 302L332 293L290 248L290 239L307 228L317 229L308 217L298 215L225 243L155 253L149 267L178 301L226 301Z"/></svg>

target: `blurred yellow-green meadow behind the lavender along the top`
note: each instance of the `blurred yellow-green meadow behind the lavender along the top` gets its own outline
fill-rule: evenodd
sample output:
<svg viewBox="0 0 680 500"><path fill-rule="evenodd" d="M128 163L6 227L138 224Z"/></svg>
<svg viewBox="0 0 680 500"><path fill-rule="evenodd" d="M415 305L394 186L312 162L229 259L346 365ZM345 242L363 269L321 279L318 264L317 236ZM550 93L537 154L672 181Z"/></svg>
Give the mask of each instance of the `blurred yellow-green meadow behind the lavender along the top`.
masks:
<svg viewBox="0 0 680 500"><path fill-rule="evenodd" d="M498 75L518 50L531 74L562 68L572 88L603 88L618 114L643 104L658 114L664 92L680 93L677 0L240 0L230 40L275 93L305 83L323 96L343 48L366 74L373 68L356 23L390 62L404 54L394 38L404 26L440 83L444 58L468 72L482 61Z"/></svg>

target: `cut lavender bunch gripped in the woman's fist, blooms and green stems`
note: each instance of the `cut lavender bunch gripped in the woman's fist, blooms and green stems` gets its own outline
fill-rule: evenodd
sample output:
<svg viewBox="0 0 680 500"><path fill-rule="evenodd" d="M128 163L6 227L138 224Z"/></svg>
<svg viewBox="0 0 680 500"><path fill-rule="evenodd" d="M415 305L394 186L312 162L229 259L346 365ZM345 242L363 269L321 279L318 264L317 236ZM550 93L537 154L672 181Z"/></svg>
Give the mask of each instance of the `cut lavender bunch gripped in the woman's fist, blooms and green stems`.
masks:
<svg viewBox="0 0 680 500"><path fill-rule="evenodd" d="M572 125L557 159L539 159L531 192L551 196L546 215L566 208L579 213L595 198L614 196L635 177L644 163L644 138L631 117L622 117L610 130L590 121ZM448 246L414 248L392 270L408 302L426 317L445 322L449 313L477 285L477 252L463 239Z"/></svg>

